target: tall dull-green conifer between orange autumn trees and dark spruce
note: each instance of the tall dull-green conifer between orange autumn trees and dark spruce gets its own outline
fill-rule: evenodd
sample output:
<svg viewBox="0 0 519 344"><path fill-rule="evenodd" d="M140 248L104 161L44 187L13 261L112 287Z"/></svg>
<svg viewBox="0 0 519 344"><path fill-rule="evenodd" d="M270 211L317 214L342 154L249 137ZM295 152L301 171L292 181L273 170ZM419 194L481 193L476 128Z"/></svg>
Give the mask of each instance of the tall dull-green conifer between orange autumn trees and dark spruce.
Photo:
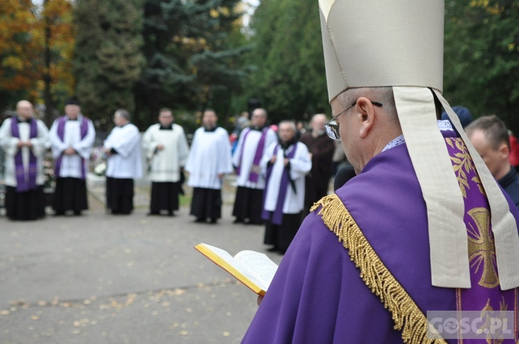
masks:
<svg viewBox="0 0 519 344"><path fill-rule="evenodd" d="M140 0L78 0L73 73L82 111L106 123L118 108L134 111L133 89L145 59Z"/></svg>

